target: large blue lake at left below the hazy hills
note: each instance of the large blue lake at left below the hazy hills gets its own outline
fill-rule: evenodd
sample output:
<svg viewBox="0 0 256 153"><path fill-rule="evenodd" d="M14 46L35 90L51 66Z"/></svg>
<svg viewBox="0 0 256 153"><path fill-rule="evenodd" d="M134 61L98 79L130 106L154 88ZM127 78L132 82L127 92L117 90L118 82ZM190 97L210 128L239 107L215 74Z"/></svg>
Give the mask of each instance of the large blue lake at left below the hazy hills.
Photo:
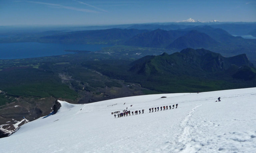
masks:
<svg viewBox="0 0 256 153"><path fill-rule="evenodd" d="M50 43L3 43L0 44L0 59L25 59L64 54L75 54L65 50L99 51L113 45L81 45L81 44L50 44Z"/></svg>

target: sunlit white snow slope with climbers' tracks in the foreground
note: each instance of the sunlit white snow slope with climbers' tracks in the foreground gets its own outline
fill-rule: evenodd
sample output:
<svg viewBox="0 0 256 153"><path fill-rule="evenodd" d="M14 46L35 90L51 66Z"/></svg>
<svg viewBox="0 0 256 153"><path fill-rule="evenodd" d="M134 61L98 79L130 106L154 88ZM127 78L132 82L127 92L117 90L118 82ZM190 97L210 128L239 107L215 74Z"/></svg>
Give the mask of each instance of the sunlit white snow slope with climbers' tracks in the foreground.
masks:
<svg viewBox="0 0 256 153"><path fill-rule="evenodd" d="M215 102L218 97L221 101ZM57 114L24 124L10 137L1 138L0 152L256 150L256 88L143 95L83 105L60 102ZM149 113L149 108L176 103L178 108ZM108 106L112 104L116 105ZM111 115L126 107L145 109L145 113Z"/></svg>

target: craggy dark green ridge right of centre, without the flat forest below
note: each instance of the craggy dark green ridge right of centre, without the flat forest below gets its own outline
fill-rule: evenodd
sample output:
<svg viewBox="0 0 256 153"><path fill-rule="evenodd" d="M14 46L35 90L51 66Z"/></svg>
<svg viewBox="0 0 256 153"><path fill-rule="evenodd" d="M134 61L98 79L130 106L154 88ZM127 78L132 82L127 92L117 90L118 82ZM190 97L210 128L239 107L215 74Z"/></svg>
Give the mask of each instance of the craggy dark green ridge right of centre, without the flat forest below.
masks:
<svg viewBox="0 0 256 153"><path fill-rule="evenodd" d="M248 69L247 69L248 68ZM232 69L232 72L231 72ZM243 71L242 71L243 69ZM255 79L256 69L245 54L225 58L218 53L205 49L187 48L168 55L146 56L131 64L131 72L149 75L188 75L188 76L216 76L226 74L233 78L241 76L239 73L252 74L243 79ZM227 73L227 71L229 71ZM209 74L208 74L209 73ZM222 76L222 75L221 75ZM241 78L239 78L241 79Z"/></svg>

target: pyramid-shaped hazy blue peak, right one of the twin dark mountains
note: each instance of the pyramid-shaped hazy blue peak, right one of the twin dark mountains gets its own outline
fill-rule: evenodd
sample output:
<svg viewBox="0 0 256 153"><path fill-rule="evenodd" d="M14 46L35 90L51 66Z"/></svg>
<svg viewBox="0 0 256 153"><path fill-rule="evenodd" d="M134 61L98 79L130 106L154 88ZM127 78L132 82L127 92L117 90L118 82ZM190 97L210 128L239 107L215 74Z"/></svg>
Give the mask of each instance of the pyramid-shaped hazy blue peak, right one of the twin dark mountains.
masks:
<svg viewBox="0 0 256 153"><path fill-rule="evenodd" d="M219 43L210 36L196 30L192 30L186 35L176 39L167 48L209 48L217 45L219 45Z"/></svg>

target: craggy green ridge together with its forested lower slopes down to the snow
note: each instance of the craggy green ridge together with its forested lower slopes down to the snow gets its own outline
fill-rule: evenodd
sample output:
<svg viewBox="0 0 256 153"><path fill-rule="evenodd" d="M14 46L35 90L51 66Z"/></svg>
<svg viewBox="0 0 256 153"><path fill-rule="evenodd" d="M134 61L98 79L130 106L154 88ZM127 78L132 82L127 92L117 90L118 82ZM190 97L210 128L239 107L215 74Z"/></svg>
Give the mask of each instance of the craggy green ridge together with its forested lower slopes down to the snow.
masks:
<svg viewBox="0 0 256 153"><path fill-rule="evenodd" d="M110 60L111 61L111 60ZM205 49L184 49L128 61L94 61L83 64L103 75L159 92L197 92L256 86L256 70L242 54L225 58ZM108 64L105 64L108 63ZM247 74L247 75L243 75Z"/></svg>

